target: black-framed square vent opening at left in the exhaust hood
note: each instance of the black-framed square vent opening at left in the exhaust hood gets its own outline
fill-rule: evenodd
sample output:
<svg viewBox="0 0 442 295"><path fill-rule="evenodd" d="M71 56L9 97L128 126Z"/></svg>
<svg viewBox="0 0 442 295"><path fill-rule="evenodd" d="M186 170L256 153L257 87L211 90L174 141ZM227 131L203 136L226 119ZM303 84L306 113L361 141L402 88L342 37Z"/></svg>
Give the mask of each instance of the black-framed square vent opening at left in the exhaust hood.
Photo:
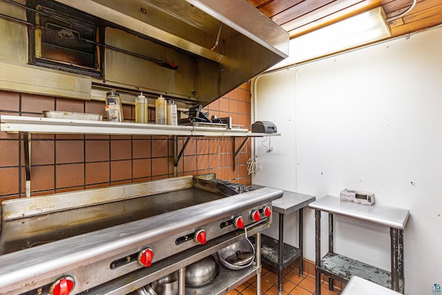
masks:
<svg viewBox="0 0 442 295"><path fill-rule="evenodd" d="M55 1L27 1L29 64L102 77L99 19Z"/></svg>

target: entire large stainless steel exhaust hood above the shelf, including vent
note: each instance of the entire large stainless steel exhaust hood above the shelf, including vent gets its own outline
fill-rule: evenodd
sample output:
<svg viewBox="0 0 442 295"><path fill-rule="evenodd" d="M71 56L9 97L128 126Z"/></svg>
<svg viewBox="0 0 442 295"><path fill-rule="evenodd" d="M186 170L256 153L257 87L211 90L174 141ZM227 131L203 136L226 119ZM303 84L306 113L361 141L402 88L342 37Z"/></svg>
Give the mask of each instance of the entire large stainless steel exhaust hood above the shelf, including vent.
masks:
<svg viewBox="0 0 442 295"><path fill-rule="evenodd" d="M246 0L3 0L0 9L8 91L104 99L117 88L125 102L143 91L205 106L289 50L289 34Z"/></svg>

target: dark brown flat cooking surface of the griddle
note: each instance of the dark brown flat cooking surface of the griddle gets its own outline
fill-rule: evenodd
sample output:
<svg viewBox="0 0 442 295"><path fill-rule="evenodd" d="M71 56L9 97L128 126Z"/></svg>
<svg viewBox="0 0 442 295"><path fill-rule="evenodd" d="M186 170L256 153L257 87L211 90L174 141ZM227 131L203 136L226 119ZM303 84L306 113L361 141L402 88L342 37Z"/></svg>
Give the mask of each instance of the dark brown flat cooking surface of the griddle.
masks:
<svg viewBox="0 0 442 295"><path fill-rule="evenodd" d="M3 227L0 254L225 198L195 187L13 220Z"/></svg>

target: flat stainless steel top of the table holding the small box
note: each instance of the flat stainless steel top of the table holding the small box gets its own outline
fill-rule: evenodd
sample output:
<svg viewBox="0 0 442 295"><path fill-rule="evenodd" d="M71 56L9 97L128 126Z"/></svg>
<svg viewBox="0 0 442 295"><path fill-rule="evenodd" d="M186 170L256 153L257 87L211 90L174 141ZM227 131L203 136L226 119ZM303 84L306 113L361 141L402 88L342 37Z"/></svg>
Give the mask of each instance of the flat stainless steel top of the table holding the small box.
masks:
<svg viewBox="0 0 442 295"><path fill-rule="evenodd" d="M378 225L404 229L410 210L380 204L367 206L340 201L336 196L325 196L309 204L309 208L346 216Z"/></svg>

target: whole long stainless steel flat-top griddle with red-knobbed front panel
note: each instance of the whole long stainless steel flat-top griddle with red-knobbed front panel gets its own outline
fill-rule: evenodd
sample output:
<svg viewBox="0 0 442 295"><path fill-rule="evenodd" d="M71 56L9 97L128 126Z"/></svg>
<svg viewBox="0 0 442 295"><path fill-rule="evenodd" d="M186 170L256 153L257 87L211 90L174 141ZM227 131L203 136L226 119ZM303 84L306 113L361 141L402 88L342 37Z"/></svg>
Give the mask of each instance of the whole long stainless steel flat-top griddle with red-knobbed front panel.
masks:
<svg viewBox="0 0 442 295"><path fill-rule="evenodd" d="M170 273L181 268L169 264L176 254L186 257L182 265L198 260L189 252L206 245L195 239L197 232L206 232L207 242L215 242L205 252L212 254L223 241L231 241L230 234L247 236L267 228L271 216L264 213L264 207L283 193L271 188L241 193L236 186L229 191L220 187L224 184L211 181L211 176L195 178L189 175L3 202L1 245L8 253L0 255L0 289L12 294L49 292L66 275L75 280L75 294L111 287L117 278L128 279L130 286L121 285L127 287L124 292L113 292L127 294L142 283L132 280L135 273L144 274L145 285L164 276L165 269ZM251 217L252 211L260 213L259 224ZM243 218L247 229L237 229L236 216ZM138 260L146 247L154 253L151 267L160 267L156 271Z"/></svg>

